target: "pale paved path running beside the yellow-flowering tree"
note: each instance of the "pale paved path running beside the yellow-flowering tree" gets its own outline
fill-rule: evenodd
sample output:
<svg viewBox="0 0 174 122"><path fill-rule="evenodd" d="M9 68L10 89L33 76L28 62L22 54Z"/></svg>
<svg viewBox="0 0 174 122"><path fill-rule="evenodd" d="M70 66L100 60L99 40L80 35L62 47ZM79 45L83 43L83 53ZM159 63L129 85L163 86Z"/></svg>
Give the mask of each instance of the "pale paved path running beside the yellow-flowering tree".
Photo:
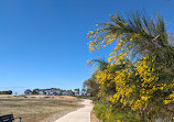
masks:
<svg viewBox="0 0 174 122"><path fill-rule="evenodd" d="M90 122L90 111L93 110L93 104L90 102L90 100L84 100L81 102L81 104L85 106L84 108L67 113L55 122Z"/></svg>

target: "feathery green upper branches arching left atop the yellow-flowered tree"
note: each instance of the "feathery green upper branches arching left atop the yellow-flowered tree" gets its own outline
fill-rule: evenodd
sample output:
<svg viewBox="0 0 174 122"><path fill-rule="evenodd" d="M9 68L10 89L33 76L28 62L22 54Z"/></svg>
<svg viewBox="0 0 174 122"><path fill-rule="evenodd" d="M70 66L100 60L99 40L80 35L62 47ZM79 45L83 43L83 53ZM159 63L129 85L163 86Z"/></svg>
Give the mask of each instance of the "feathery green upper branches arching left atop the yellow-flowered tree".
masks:
<svg viewBox="0 0 174 122"><path fill-rule="evenodd" d="M173 76L174 43L173 40L170 40L164 20L159 14L156 14L155 20L139 13L132 14L128 19L119 14L110 15L110 20L111 23L99 24L104 27L89 32L89 37L94 38L89 43L90 51L117 41L118 45L115 53L122 52L124 48L123 52L132 51L130 54L140 57L149 55L154 57L155 66L160 67L160 71ZM140 59L134 57L137 60Z"/></svg>

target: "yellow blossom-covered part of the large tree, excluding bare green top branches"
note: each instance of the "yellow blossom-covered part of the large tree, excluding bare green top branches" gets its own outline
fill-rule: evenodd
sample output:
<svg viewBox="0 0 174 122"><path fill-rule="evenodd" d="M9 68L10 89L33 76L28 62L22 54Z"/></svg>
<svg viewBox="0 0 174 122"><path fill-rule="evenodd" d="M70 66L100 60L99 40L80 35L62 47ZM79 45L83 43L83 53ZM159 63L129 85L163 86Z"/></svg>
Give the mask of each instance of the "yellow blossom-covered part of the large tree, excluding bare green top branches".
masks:
<svg viewBox="0 0 174 122"><path fill-rule="evenodd" d="M166 66L165 63L161 62L161 66L156 58L159 55L151 55L151 53L146 53L148 51L139 53L139 58L132 58L139 47L135 46L140 43L139 40L145 42L144 40L149 38L144 38L139 32L127 33L128 30L122 34L120 29L127 29L129 23L121 19L117 20L117 15L111 16L116 24L105 23L106 27L88 33L88 37L91 40L88 43L91 52L116 43L116 47L108 57L107 68L97 69L96 79L100 84L98 96L105 102L108 101L111 108L121 104L121 108L130 108L132 112L151 121L159 118L160 113L173 117L171 111L174 108L174 80L162 74L165 69L163 67ZM109 30L110 26L115 26L117 30ZM145 46L143 47L145 48ZM173 73L167 73L168 76L172 76L171 74ZM121 120L117 121L121 122Z"/></svg>

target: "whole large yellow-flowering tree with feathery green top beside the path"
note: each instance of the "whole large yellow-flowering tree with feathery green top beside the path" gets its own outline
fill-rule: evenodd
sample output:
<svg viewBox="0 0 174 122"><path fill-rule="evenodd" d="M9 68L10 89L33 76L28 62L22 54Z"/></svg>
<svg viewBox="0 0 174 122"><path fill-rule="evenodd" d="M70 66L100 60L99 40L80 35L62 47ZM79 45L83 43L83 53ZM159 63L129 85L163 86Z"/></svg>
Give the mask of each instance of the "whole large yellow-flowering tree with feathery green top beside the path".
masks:
<svg viewBox="0 0 174 122"><path fill-rule="evenodd" d="M142 121L172 120L174 108L174 45L164 20L140 13L122 18L90 31L89 49L117 43L107 68L96 70L100 96L111 104L122 104L140 114Z"/></svg>

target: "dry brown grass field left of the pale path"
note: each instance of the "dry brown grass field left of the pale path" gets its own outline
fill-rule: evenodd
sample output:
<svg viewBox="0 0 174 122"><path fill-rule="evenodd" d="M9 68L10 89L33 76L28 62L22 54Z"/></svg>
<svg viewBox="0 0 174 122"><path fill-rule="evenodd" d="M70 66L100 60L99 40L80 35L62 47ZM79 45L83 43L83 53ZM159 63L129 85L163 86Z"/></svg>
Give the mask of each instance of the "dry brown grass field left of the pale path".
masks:
<svg viewBox="0 0 174 122"><path fill-rule="evenodd" d="M0 115L14 114L14 118L21 117L22 122L54 122L79 108L79 101L75 97L0 97Z"/></svg>

